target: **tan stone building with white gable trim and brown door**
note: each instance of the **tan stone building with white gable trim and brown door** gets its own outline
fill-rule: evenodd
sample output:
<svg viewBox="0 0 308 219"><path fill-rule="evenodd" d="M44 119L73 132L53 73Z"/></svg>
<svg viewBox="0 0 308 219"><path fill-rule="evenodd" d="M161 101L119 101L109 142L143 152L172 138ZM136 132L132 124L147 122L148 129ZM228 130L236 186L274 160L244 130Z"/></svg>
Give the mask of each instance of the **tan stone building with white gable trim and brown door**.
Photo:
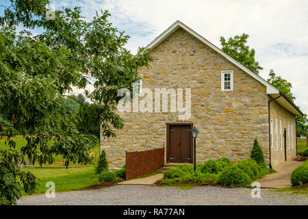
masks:
<svg viewBox="0 0 308 219"><path fill-rule="evenodd" d="M147 48L153 62L139 71L138 101L145 98L143 92L152 90L146 96L153 97L153 111L119 113L124 128L116 131L116 138L101 138L110 170L125 164L125 151L162 147L166 162L192 163L192 127L199 130L197 163L219 157L247 159L255 138L273 168L296 157L296 115L303 113L283 92L180 21ZM168 96L182 88L183 105L190 98L189 114L181 116L183 112L172 109L170 101L167 112L159 109L164 96L154 100L159 97L157 88L169 90Z"/></svg>

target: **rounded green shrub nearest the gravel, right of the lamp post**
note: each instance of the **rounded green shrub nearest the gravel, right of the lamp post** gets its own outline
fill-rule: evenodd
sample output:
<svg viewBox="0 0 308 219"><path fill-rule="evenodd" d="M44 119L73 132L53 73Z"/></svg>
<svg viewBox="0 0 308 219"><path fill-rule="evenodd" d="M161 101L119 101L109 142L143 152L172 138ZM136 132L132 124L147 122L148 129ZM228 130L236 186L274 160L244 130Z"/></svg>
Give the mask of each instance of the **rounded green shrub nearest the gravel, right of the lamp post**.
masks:
<svg viewBox="0 0 308 219"><path fill-rule="evenodd" d="M251 183L251 179L246 172L238 168L237 166L230 166L225 168L218 175L217 181L220 185L227 185L229 187L246 186Z"/></svg>

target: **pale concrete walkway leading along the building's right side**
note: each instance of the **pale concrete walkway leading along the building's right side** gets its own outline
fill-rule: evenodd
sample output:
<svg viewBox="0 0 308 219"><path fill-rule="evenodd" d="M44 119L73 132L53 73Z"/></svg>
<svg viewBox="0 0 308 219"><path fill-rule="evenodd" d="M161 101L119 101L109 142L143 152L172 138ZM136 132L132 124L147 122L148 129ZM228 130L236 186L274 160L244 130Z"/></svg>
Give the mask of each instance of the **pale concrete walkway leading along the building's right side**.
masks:
<svg viewBox="0 0 308 219"><path fill-rule="evenodd" d="M298 161L286 161L277 168L274 168L277 172L271 175L266 175L264 179L257 180L261 184L261 188L287 188L292 186L290 178L292 171L302 165L304 162Z"/></svg>

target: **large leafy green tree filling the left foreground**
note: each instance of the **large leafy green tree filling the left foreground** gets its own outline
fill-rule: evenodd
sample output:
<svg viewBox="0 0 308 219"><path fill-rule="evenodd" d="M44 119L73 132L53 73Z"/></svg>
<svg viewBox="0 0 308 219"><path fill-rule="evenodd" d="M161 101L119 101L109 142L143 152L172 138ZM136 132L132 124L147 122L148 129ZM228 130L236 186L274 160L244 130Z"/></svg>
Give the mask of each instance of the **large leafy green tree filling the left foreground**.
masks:
<svg viewBox="0 0 308 219"><path fill-rule="evenodd" d="M0 151L3 204L15 204L21 190L31 194L36 188L36 178L17 166L25 159L42 165L62 155L66 166L91 162L88 151L97 138L79 131L78 116L66 114L67 92L85 89L86 98L97 103L84 105L88 114L97 116L103 135L115 136L114 130L123 127L116 114L117 91L131 89L138 68L151 60L143 48L136 55L124 48L129 36L112 27L109 12L85 21L80 8L65 8L47 19L48 3L11 0L0 16L0 134L8 146ZM40 28L42 34L17 32L18 25ZM18 132L27 133L20 154L11 139Z"/></svg>

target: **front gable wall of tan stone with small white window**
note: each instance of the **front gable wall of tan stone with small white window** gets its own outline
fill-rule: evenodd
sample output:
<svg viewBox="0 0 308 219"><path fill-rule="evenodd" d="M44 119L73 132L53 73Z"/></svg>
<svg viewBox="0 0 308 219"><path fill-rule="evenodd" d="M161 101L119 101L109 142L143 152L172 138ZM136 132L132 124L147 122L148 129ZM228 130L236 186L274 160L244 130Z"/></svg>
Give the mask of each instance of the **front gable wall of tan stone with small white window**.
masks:
<svg viewBox="0 0 308 219"><path fill-rule="evenodd" d="M166 146L166 123L193 123L199 134L196 160L249 157L254 138L268 162L268 95L266 87L183 29L178 29L152 51L149 69L140 69L143 88L191 88L192 116L177 113L121 113L125 127L117 138L101 142L110 169L125 164L125 149ZM233 70L233 91L222 92L221 71ZM153 103L154 106L154 103ZM165 155L166 156L166 155ZM165 157L166 159L166 157Z"/></svg>

